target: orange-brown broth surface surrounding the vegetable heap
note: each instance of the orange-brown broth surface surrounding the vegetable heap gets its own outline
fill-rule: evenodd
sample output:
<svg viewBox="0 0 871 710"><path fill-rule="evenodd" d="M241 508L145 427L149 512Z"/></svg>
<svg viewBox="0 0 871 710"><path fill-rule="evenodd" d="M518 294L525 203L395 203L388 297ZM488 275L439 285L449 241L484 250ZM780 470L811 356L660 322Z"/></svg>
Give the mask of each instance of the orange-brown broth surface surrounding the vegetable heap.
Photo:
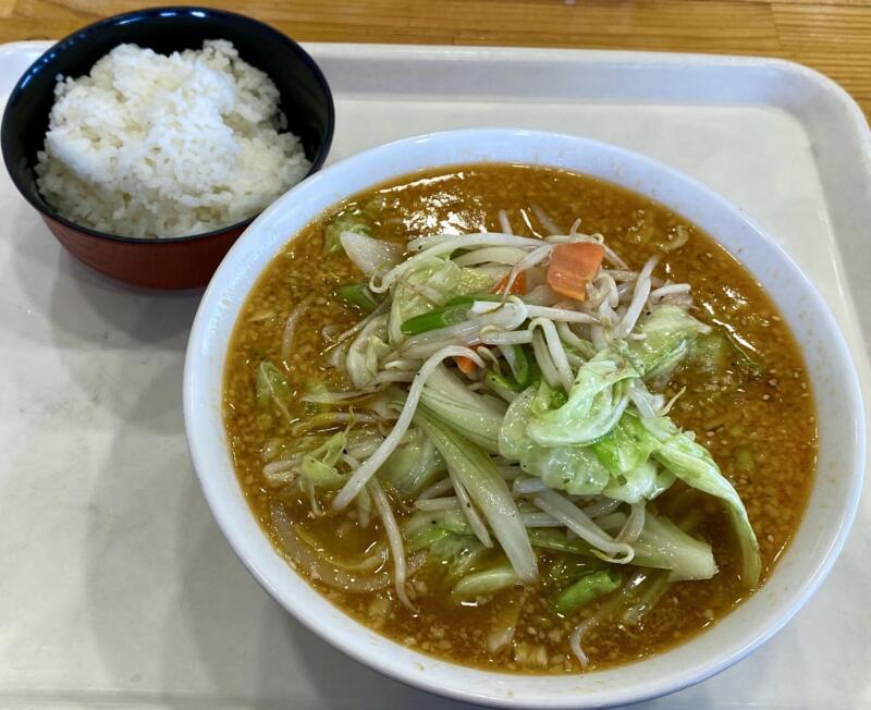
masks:
<svg viewBox="0 0 871 710"><path fill-rule="evenodd" d="M761 369L732 387L703 372L678 370L666 394L686 385L671 413L696 432L732 481L747 506L759 538L762 578L794 535L810 491L817 455L817 428L810 382L801 354L777 309L759 284L725 249L698 228L650 199L560 170L483 164L405 176L351 200L377 205L379 234L404 242L440 232L501 231L500 209L507 211L515 233L541 232L532 206L562 229L580 218L581 231L601 233L633 269L664 244L685 236L684 246L666 252L655 274L689 282L695 315L725 328ZM333 213L333 212L331 212ZM329 217L329 216L327 216ZM266 485L262 450L274 438L291 437L286 420L258 409L255 370L263 357L280 362L284 322L304 298L312 305L297 328L286 362L294 396L292 416L310 414L298 395L317 379L343 384L326 365L321 329L346 329L360 319L338 302L335 286L360 281L361 274L343 255L322 257L327 219L306 227L273 259L242 308L228 354L224 420L240 482L265 532L281 548L272 528L269 503L277 497L287 506L297 528L319 549L341 559L359 559L373 540L383 540L377 519L361 529L345 513L315 517L305 497L287 495ZM603 669L662 651L699 633L727 614L747 596L741 586L739 553L723 509L711 498L692 499L702 516L695 535L712 544L719 573L710 580L673 585L641 624L593 627L585 636L590 668ZM392 501L398 518L412 512L408 501ZM686 489L673 487L657 501L668 512L686 505ZM547 553L541 558L547 560ZM373 593L345 593L311 585L334 604L409 648L465 665L510 672L565 673L580 670L568 647L568 635L594 610L562 619L539 589L500 592L487 604L457 605L441 591L438 573L425 567L410 588L416 613L395 599L392 587ZM500 652L487 650L488 631L496 615L520 605L514 641Z"/></svg>

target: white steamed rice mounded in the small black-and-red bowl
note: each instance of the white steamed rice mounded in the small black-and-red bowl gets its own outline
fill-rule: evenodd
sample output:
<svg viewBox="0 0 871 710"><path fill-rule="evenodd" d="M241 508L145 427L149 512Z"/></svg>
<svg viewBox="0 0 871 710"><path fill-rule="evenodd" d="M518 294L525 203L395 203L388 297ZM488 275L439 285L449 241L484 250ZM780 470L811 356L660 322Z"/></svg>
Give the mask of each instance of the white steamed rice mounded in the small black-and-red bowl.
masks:
<svg viewBox="0 0 871 710"><path fill-rule="evenodd" d="M233 45L169 57L120 45L59 77L37 185L76 224L135 237L198 234L263 209L310 162L279 91Z"/></svg>

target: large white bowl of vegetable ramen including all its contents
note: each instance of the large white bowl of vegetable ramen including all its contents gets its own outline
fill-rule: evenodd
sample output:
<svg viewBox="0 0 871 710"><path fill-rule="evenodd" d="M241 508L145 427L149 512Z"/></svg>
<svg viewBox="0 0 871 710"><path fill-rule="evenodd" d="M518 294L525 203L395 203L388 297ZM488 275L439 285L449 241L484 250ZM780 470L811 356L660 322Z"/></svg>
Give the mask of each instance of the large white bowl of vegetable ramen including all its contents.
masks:
<svg viewBox="0 0 871 710"><path fill-rule="evenodd" d="M783 626L864 467L849 353L780 247L642 156L375 148L216 273L184 384L240 559L357 660L505 707L638 701Z"/></svg>

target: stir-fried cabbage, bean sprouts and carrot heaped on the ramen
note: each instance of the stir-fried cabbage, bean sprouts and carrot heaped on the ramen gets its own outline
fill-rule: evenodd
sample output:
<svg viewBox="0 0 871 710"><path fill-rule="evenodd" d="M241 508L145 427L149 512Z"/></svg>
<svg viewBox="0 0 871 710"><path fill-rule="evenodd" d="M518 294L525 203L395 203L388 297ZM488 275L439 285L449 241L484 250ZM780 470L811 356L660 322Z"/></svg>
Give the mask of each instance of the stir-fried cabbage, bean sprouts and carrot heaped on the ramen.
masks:
<svg viewBox="0 0 871 710"><path fill-rule="evenodd" d="M637 624L671 584L716 574L709 542L657 500L677 481L723 504L744 583L758 585L747 511L711 454L670 418L680 392L666 395L687 362L723 387L755 364L692 315L688 284L654 276L657 257L629 271L601 235L531 238L502 221L504 233L402 247L380 240L359 209L334 219L326 252L344 248L368 277L335 290L365 314L331 344L347 390L320 385L304 397L320 409L292 423L302 436L268 457L263 476L305 492L315 515L353 513L359 525L378 516L384 539L366 560L390 560L393 573L355 588L392 580L413 608L409 580L438 565L456 603L514 599L491 648L511 639L511 595L527 585L550 595L554 614L597 609L571 638L584 664L584 634L603 615ZM263 360L256 387L263 416L290 418L279 367ZM749 444L734 456L752 470ZM348 578L316 562L275 516L298 564Z"/></svg>

